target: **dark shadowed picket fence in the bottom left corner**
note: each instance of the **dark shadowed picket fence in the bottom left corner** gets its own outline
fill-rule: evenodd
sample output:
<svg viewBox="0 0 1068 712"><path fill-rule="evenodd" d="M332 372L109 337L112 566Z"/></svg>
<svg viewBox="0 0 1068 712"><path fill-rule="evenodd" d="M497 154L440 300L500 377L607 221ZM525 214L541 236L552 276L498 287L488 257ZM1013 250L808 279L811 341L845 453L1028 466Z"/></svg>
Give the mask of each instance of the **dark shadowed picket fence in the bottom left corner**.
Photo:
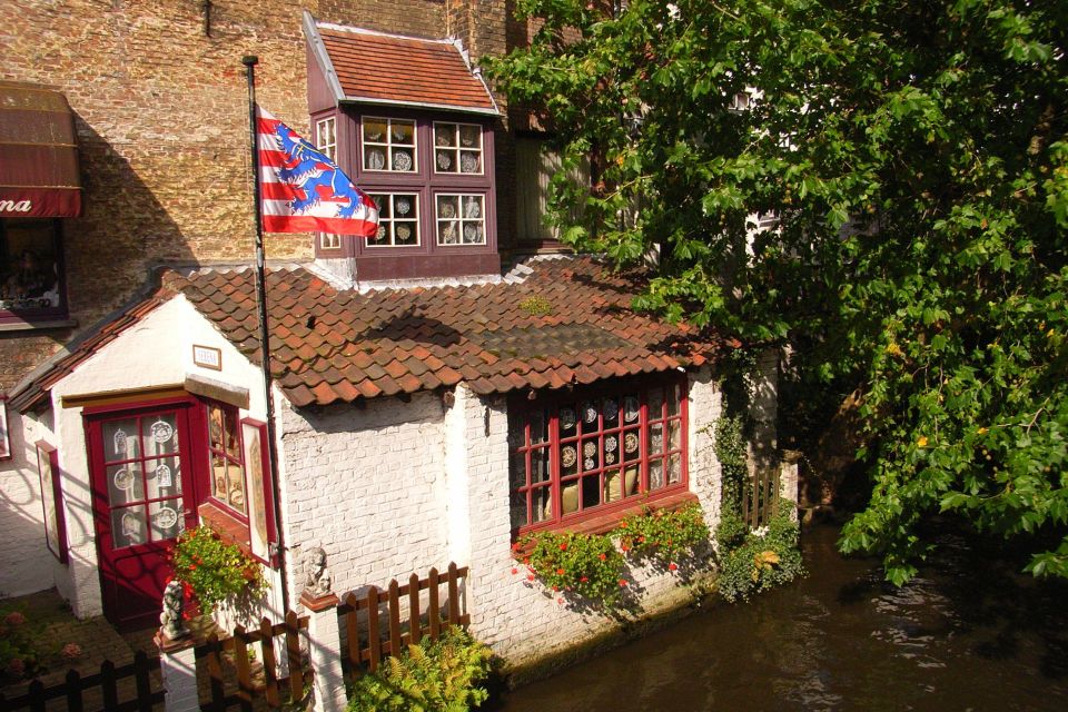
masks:
<svg viewBox="0 0 1068 712"><path fill-rule="evenodd" d="M152 690L151 674L158 671L159 657L149 657L144 651L137 651L134 662L126 665L116 666L106 660L99 673L81 676L77 670L71 670L66 681L59 684L44 686L40 680L34 680L26 694L10 700L0 694L0 711L151 712L162 709L164 704L162 688ZM135 696L123 700L120 698L128 696L129 685L120 683L128 678L134 679Z"/></svg>

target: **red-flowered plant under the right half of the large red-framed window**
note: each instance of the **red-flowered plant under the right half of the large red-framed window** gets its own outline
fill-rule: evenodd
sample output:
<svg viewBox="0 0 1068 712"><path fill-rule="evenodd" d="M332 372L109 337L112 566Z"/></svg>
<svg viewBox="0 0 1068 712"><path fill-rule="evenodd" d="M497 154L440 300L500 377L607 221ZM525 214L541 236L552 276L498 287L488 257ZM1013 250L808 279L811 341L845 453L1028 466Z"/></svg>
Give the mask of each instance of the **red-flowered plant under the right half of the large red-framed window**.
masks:
<svg viewBox="0 0 1068 712"><path fill-rule="evenodd" d="M699 504L674 512L657 510L627 516L617 533L630 556L652 558L672 571L682 556L709 541L709 525Z"/></svg>

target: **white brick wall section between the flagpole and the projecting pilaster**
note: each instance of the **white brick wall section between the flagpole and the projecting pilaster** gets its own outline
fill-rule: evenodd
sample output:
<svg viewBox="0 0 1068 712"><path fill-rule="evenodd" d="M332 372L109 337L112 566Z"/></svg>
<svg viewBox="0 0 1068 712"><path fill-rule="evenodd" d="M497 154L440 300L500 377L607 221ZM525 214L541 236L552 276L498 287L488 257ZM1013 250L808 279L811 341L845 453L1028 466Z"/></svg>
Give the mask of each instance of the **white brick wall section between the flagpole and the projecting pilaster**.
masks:
<svg viewBox="0 0 1068 712"><path fill-rule="evenodd" d="M448 563L438 395L376 398L363 409L279 405L290 606L304 587L304 553L316 546L338 593Z"/></svg>

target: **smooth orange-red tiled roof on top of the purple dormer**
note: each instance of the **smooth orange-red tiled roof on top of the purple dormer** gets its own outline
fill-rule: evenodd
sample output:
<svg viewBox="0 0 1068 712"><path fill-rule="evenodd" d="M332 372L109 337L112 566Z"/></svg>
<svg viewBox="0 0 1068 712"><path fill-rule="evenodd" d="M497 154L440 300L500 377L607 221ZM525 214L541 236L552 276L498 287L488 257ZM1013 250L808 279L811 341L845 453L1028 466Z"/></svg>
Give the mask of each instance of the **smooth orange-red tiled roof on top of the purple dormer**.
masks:
<svg viewBox="0 0 1068 712"><path fill-rule="evenodd" d="M354 28L318 31L348 100L496 112L485 85L451 41Z"/></svg>

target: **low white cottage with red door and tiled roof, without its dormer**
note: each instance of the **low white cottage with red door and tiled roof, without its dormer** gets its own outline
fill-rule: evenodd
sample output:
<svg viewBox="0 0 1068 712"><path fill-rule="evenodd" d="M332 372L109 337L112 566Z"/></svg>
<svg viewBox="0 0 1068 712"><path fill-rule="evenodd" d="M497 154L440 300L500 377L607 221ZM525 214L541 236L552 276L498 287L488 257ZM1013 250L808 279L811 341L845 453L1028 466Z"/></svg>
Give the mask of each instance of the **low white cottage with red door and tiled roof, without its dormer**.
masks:
<svg viewBox="0 0 1068 712"><path fill-rule="evenodd" d="M688 502L716 523L729 346L632 312L642 275L561 256L469 286L325 275L267 278L277 482L247 269L166 273L12 394L55 467L51 566L78 615L151 623L166 547L207 523L263 562L275 614L319 546L338 592L469 566L473 632L518 663L612 622L514 575L517 537ZM646 610L676 602L671 574L635 577Z"/></svg>

